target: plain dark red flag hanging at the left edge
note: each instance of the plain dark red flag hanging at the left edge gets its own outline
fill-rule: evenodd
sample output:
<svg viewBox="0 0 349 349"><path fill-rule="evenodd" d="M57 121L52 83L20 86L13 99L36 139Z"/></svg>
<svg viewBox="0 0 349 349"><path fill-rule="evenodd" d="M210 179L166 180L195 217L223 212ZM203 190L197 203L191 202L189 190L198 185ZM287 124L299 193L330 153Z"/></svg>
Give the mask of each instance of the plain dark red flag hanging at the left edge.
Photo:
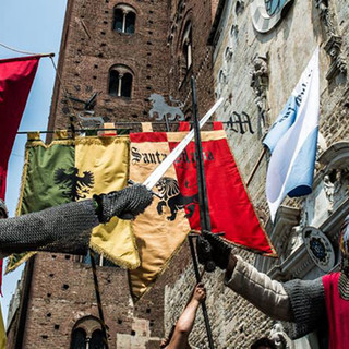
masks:
<svg viewBox="0 0 349 349"><path fill-rule="evenodd" d="M8 161L40 57L0 60L0 198Z"/></svg>

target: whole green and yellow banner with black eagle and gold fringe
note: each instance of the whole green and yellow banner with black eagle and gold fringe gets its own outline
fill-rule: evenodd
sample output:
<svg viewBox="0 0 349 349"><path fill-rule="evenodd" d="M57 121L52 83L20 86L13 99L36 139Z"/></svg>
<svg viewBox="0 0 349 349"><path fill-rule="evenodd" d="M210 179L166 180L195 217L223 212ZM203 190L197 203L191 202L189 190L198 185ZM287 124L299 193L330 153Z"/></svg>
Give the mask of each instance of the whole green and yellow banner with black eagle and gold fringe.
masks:
<svg viewBox="0 0 349 349"><path fill-rule="evenodd" d="M121 190L129 176L129 144L128 136L68 140L67 132L60 131L46 145L38 132L29 133L17 215ZM140 265L129 220L115 217L109 224L96 227L91 248L122 267L132 269ZM7 272L33 254L10 256Z"/></svg>

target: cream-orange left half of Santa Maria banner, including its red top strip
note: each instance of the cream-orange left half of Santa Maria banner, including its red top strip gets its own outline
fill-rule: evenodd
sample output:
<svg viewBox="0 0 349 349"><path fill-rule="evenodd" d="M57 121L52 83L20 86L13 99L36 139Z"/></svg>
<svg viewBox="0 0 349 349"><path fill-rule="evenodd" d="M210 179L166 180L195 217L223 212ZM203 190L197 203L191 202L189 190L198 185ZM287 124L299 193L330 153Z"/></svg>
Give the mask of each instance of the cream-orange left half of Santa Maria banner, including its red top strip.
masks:
<svg viewBox="0 0 349 349"><path fill-rule="evenodd" d="M131 133L130 179L142 183L170 153L165 132ZM133 221L141 266L130 270L131 293L139 300L165 269L190 231L176 171L171 166L156 184L161 198Z"/></svg>

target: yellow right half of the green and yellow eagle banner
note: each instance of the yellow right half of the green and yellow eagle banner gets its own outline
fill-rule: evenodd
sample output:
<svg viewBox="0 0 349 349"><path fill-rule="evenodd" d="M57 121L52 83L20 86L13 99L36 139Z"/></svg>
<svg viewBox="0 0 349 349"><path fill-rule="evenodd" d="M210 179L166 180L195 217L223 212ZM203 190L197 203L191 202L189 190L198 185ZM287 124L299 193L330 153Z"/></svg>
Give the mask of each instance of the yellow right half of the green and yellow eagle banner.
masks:
<svg viewBox="0 0 349 349"><path fill-rule="evenodd" d="M80 176L84 171L94 176L94 188L85 198L127 186L129 144L128 136L75 139L75 167ZM115 217L107 225L94 228L89 245L122 267L136 268L140 265L130 220Z"/></svg>

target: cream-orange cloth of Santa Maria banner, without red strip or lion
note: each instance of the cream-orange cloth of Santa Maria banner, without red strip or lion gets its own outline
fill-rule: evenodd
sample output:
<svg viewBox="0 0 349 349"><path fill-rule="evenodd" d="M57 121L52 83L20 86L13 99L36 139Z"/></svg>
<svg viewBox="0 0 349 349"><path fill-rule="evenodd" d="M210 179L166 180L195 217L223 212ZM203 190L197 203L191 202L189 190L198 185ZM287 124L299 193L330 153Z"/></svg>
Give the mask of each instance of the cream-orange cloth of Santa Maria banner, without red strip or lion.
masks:
<svg viewBox="0 0 349 349"><path fill-rule="evenodd" d="M158 160L164 160L169 152L167 142L132 143L130 178L142 183L159 165ZM158 156L152 157L154 154ZM149 158L155 160L151 161ZM174 167L171 166L164 177L177 180ZM135 301L153 286L190 231L184 209L179 209L176 219L169 220L169 207L163 206L164 213L160 215L157 210L159 202L154 196L153 204L133 221L141 256L141 266L129 272L131 293Z"/></svg>

